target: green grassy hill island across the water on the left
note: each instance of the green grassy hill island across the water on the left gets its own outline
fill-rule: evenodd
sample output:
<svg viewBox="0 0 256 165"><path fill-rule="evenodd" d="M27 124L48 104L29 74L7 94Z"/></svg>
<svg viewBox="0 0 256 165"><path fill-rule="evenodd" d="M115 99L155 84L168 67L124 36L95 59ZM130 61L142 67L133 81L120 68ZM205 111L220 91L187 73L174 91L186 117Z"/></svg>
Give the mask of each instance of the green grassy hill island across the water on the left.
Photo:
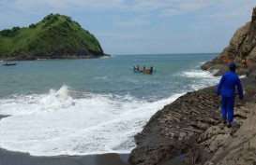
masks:
<svg viewBox="0 0 256 165"><path fill-rule="evenodd" d="M0 60L75 59L109 56L98 39L70 17L50 14L29 27L0 31Z"/></svg>

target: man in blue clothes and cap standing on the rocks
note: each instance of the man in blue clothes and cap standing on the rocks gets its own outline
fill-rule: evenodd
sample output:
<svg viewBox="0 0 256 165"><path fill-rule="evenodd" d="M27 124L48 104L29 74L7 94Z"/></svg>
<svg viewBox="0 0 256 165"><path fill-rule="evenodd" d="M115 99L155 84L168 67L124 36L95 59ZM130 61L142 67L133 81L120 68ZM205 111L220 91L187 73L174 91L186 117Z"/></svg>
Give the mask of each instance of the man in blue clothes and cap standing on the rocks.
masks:
<svg viewBox="0 0 256 165"><path fill-rule="evenodd" d="M221 114L223 123L227 123L228 114L228 128L232 127L233 122L233 107L234 107L234 96L235 86L237 87L239 99L244 98L242 85L239 77L235 74L235 63L230 64L230 72L225 73L218 84L217 93L221 92Z"/></svg>

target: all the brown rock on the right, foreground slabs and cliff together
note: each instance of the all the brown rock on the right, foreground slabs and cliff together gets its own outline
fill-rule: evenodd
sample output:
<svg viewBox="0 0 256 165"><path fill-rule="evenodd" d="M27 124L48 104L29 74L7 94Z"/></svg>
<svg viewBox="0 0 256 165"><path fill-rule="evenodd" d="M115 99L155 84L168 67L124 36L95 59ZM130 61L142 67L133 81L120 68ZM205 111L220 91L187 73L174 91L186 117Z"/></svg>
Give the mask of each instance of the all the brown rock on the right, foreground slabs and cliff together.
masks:
<svg viewBox="0 0 256 165"><path fill-rule="evenodd" d="M232 128L221 123L217 87L188 92L164 106L135 136L137 144L129 157L133 165L156 165L172 158L184 164L245 165L256 164L256 9L251 21L240 28L225 48L203 69L228 69L227 60L237 63L245 98L236 98ZM246 57L248 66L240 61ZM168 163L167 163L168 164Z"/></svg>

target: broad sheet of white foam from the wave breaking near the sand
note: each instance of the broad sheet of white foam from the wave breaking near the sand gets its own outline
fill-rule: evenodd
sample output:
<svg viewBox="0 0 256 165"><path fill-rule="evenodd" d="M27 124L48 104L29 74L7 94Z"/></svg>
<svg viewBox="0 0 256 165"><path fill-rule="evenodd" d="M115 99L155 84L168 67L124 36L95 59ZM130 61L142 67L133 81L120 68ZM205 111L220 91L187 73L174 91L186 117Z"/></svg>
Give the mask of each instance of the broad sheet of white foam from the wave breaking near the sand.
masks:
<svg viewBox="0 0 256 165"><path fill-rule="evenodd" d="M0 147L35 156L127 153L133 136L163 105L129 95L81 93L63 86L39 95L0 100Z"/></svg>

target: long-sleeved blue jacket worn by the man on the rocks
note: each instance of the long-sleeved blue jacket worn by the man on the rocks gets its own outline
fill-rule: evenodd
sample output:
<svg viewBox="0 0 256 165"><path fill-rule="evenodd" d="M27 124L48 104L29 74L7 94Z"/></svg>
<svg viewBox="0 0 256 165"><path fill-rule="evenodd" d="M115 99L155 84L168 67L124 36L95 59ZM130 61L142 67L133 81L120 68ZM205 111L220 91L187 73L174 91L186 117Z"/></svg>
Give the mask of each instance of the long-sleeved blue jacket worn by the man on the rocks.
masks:
<svg viewBox="0 0 256 165"><path fill-rule="evenodd" d="M234 91L235 91L235 85L237 87L238 90L238 94L239 94L239 99L243 99L244 98L244 94L243 94L243 89L242 89L242 85L240 82L239 77L234 73L234 72L227 72L225 73L218 84L218 89L217 89L217 93L220 94L221 91L221 95L222 96L226 96L226 97L234 97Z"/></svg>

